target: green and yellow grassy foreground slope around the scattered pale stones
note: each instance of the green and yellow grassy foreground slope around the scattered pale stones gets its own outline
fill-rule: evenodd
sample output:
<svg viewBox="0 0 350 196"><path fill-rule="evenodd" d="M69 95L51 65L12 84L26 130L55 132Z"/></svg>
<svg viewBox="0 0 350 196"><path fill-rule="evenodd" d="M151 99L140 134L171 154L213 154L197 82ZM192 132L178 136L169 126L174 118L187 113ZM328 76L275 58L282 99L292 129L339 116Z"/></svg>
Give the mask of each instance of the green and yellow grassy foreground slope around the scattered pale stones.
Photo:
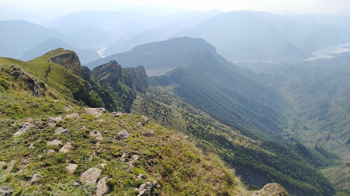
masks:
<svg viewBox="0 0 350 196"><path fill-rule="evenodd" d="M96 185L86 185L79 176L86 169L105 162L107 167L102 169L100 178L111 178L108 181L110 195L135 195L134 189L144 183L143 180L134 178L139 173L149 180L156 179L159 182L161 188L156 190L159 195L241 195L245 192L233 171L226 168L217 156L204 155L175 130L166 129L156 123L141 127L137 124L140 116L135 115L124 114L116 118L105 113L96 118L85 113L75 105L75 101L59 92L55 93L56 97L62 99L57 103L49 93L44 97L34 97L27 91L23 81L15 81L8 75L9 66L6 65L9 63L22 69L32 69L38 79L43 80L45 77L41 74L45 69L41 69L41 65L47 63L34 62L0 59L0 63L3 64L0 68L2 83L8 88L0 91L0 161L8 163L12 159L16 160L10 174L5 174L4 169L0 169L1 189L13 191L14 195L93 195ZM40 66L35 66L38 64ZM52 68L57 68L57 72L48 77L48 91L65 89L63 83L66 82L66 76L72 75L63 66L50 64ZM69 112L63 110L66 105L70 108ZM73 112L79 113L79 120L67 118L59 121L56 127L49 127L45 121L51 116L64 116ZM28 118L34 121L40 118L43 121L34 122L36 128L30 128L26 133L13 138L13 133L25 121L32 121ZM58 126L67 127L69 133L54 135ZM86 129L79 130L83 126ZM104 140L98 147L102 148L99 156L89 161L90 154L98 150L94 147L97 142L95 138L88 136L89 131L94 129L100 130ZM153 129L156 134L149 134L149 129ZM121 130L127 130L131 137L125 141L115 140L113 136ZM62 140L63 144L73 142L72 149L66 153L58 153L57 150L62 145L46 145L46 141L55 138ZM31 143L35 146L33 149L29 148ZM54 149L56 152L43 152L48 149ZM119 160L123 152L126 152L128 157L132 154L140 156L134 168ZM75 173L68 174L65 170L68 163L78 164ZM28 167L24 167L27 164ZM24 169L23 173L16 174L21 169ZM34 173L38 173L40 179L30 183L27 179ZM82 186L73 186L73 181Z"/></svg>

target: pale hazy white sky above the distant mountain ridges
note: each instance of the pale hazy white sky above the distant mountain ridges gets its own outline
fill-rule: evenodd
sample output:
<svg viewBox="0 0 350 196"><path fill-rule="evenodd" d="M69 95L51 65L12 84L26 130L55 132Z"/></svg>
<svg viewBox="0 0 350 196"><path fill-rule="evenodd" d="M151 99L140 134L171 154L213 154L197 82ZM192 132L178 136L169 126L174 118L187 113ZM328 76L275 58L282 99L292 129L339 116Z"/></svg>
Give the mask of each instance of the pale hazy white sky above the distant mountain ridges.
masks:
<svg viewBox="0 0 350 196"><path fill-rule="evenodd" d="M131 6L160 6L184 10L220 9L224 12L248 9L276 14L292 12L349 15L350 12L350 0L0 0L0 6L3 5L60 9L62 12L118 11ZM176 11L179 10L173 10Z"/></svg>

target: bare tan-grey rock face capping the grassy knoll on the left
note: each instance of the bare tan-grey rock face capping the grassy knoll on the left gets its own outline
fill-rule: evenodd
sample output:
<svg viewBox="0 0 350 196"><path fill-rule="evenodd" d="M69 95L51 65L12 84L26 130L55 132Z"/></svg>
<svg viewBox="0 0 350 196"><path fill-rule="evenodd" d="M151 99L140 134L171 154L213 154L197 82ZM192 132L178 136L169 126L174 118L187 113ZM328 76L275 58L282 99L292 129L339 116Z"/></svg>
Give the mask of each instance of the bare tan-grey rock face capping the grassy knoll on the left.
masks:
<svg viewBox="0 0 350 196"><path fill-rule="evenodd" d="M57 48L56 50L59 49L63 50L63 48ZM68 66L75 73L78 73L78 69L80 67L79 57L77 53L72 50L65 50L65 53L50 58L50 61L58 65Z"/></svg>

